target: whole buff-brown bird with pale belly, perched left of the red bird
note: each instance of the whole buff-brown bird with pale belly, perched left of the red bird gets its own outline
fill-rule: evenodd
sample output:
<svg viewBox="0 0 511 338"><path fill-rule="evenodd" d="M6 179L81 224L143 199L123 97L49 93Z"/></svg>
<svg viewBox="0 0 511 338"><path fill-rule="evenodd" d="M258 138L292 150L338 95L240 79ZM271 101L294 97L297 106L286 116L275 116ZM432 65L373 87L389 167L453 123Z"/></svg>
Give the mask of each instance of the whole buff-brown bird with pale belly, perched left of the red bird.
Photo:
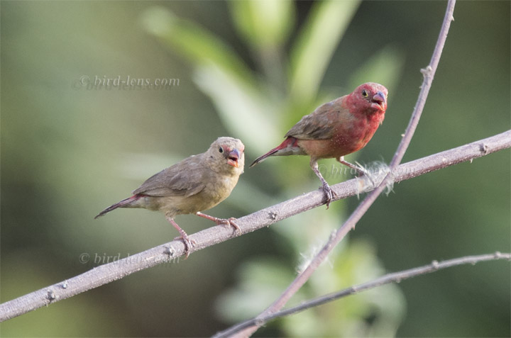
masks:
<svg viewBox="0 0 511 338"><path fill-rule="evenodd" d="M172 167L151 176L133 196L101 211L95 218L116 208L145 208L165 213L165 218L180 232L187 246L187 257L192 249L185 230L174 221L176 215L194 213L216 224L230 224L239 231L234 218L215 218L201 213L224 201L238 183L245 165L245 146L241 140L219 137L207 152L192 155ZM179 237L177 237L179 238Z"/></svg>

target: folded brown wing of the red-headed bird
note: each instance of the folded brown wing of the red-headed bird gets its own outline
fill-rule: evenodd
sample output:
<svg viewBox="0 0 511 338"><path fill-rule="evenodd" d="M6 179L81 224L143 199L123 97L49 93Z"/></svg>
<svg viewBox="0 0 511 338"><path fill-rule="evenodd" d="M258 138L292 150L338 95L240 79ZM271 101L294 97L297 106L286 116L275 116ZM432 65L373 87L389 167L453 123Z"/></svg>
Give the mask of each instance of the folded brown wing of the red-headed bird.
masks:
<svg viewBox="0 0 511 338"><path fill-rule="evenodd" d="M285 135L299 140L327 140L334 136L335 125L332 121L341 113L340 98L325 103L315 111L306 115L295 124Z"/></svg>

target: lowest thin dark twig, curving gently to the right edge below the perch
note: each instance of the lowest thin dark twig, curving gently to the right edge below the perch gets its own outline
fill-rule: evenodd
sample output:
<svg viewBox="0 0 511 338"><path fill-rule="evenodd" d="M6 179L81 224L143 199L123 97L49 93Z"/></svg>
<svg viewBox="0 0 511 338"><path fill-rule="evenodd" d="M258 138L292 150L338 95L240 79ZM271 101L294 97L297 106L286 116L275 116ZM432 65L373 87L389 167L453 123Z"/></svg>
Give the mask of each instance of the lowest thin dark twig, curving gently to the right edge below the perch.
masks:
<svg viewBox="0 0 511 338"><path fill-rule="evenodd" d="M405 279L417 277L423 274L431 274L432 272L439 271L441 269L450 268L452 266L458 266L463 264L476 264L480 261L496 261L498 259L507 259L511 260L511 254L509 253L500 253L495 252L493 254L481 254L478 256L465 256L455 259L449 259L447 261L432 261L431 264L419 266L417 268L403 270L399 272L394 272L391 274L386 274L385 276L381 276L380 278L376 278L373 281L369 281L366 283L358 284L356 286L351 286L349 288L345 288L344 290L337 291L335 293L329 293L328 295L323 295L318 298L314 298L312 300L307 300L302 302L300 305L294 306L292 308L281 310L275 312L271 315L265 315L264 317L254 317L251 320L246 320L245 322L241 322L236 326L230 327L229 329L214 335L214 338L225 338L235 334L242 329L246 329L247 327L251 327L253 325L265 325L270 320L275 320L276 318L285 317L287 315L292 315L297 312L302 312L309 308L314 308L319 305L323 305L326 303L330 303L334 300L338 300L339 298L344 298L348 295L353 295L354 293L360 293L362 291L368 291L372 288L376 288L378 286L383 286L389 283L400 283L400 281L404 281Z"/></svg>

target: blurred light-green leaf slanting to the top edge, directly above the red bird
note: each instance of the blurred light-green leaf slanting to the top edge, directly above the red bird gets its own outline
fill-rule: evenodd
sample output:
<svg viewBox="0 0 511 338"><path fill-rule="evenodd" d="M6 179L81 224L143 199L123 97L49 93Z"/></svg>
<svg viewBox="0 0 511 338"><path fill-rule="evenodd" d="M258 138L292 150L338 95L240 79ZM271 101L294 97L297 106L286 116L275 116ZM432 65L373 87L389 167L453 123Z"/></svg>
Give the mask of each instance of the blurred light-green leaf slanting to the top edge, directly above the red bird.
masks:
<svg viewBox="0 0 511 338"><path fill-rule="evenodd" d="M312 7L292 49L290 69L291 97L312 101L326 67L360 1L319 1Z"/></svg>

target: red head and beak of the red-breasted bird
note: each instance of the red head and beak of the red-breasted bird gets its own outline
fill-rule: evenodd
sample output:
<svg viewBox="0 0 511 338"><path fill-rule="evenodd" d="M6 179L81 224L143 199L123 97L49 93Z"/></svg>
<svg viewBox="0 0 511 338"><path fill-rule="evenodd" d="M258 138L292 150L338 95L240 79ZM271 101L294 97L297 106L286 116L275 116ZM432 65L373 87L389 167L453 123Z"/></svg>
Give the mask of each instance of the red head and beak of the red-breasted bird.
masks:
<svg viewBox="0 0 511 338"><path fill-rule="evenodd" d="M381 84L374 82L361 84L349 96L351 104L365 108L364 110L366 111L381 111L385 113L387 110L388 90Z"/></svg>

